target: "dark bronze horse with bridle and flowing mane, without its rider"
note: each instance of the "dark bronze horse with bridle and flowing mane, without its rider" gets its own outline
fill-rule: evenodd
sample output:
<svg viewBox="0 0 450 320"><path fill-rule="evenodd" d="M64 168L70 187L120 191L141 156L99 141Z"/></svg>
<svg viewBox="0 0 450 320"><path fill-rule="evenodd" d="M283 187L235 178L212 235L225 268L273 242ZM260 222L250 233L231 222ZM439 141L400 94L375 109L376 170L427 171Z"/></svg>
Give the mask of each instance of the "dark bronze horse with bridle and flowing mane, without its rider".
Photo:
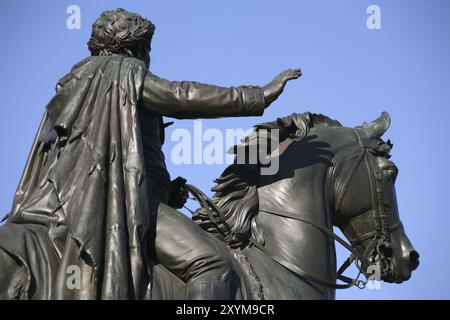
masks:
<svg viewBox="0 0 450 320"><path fill-rule="evenodd" d="M187 185L202 204L193 227L229 253L235 299L333 299L335 289L363 287L361 275L395 283L410 278L419 254L398 215L392 144L381 139L389 125L387 113L356 128L294 113L256 125L232 148L249 155L255 147L270 149L276 138L268 153L279 162L276 174L261 174L264 161L235 161L215 180L212 199ZM351 252L339 270L334 240ZM353 262L354 279L343 275ZM18 265L0 250L0 293L14 290L14 279L23 276ZM184 299L185 283L156 263L149 291L152 299Z"/></svg>

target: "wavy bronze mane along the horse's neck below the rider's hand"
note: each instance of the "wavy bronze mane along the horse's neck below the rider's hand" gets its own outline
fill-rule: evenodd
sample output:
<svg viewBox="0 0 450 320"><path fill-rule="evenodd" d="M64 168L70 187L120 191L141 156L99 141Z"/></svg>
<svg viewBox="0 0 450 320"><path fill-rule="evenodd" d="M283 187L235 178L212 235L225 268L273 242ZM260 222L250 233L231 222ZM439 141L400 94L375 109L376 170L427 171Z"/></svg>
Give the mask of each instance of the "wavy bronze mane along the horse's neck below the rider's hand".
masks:
<svg viewBox="0 0 450 320"><path fill-rule="evenodd" d="M268 148L270 140L275 137L272 134L274 129L278 130L276 137L282 142L288 138L302 139L308 134L309 129L317 126L342 127L338 121L321 114L293 113L275 121L255 125L254 131L228 152L236 155L241 149L248 155L250 150L255 152L251 147ZM259 161L256 161L256 164L238 163L235 156L234 163L214 180L216 186L211 189L215 192L212 200L222 211L224 220L219 219L218 212L214 213L214 219L211 220L209 210L205 208L197 209L192 219L231 248L245 247L250 239L264 244L264 238L255 219L259 209L258 181L262 166Z"/></svg>

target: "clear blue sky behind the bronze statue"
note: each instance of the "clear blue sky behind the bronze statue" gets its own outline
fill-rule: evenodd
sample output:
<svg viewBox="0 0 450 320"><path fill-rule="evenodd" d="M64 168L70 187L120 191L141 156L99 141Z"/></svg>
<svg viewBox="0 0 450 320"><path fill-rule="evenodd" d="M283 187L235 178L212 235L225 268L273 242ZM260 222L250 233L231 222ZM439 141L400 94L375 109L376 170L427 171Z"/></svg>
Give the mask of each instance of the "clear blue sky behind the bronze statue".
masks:
<svg viewBox="0 0 450 320"><path fill-rule="evenodd" d="M81 29L66 28L66 8L81 8ZM381 8L381 30L366 9ZM56 81L88 55L90 26L105 9L124 7L156 24L151 70L168 79L263 85L289 67L288 84L263 118L221 119L205 128L248 128L313 111L346 126L392 116L387 137L400 168L400 214L421 265L402 285L339 291L338 299L449 299L450 1L1 1L0 213L12 197ZM193 122L176 121L192 130ZM173 143L165 145L170 152ZM225 165L176 166L209 190ZM195 207L195 204L190 204ZM344 258L339 251L339 258Z"/></svg>

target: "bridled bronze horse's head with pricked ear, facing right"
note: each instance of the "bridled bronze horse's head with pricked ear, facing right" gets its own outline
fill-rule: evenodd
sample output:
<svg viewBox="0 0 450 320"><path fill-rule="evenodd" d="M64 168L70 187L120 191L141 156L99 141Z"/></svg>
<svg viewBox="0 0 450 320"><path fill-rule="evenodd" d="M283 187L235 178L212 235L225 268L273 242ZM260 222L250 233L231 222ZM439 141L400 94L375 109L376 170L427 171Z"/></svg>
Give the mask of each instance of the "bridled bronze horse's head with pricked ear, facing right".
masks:
<svg viewBox="0 0 450 320"><path fill-rule="evenodd" d="M356 249L363 270L375 273L378 280L401 283L418 267L419 254L398 213L398 168L389 160L391 142L381 139L389 125L384 112L354 128L355 143L336 154L331 169L333 221Z"/></svg>

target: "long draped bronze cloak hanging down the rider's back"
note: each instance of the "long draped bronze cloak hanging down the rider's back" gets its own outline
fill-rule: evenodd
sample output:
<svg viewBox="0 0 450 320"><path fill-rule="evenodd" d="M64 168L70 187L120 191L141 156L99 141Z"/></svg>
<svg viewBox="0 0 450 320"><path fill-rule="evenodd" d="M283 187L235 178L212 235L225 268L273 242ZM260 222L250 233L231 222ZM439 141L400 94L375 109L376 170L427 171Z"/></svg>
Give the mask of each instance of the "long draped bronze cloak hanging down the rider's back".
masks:
<svg viewBox="0 0 450 320"><path fill-rule="evenodd" d="M146 297L155 214L137 110L146 69L89 57L59 81L0 227L0 248L27 273L21 298Z"/></svg>

